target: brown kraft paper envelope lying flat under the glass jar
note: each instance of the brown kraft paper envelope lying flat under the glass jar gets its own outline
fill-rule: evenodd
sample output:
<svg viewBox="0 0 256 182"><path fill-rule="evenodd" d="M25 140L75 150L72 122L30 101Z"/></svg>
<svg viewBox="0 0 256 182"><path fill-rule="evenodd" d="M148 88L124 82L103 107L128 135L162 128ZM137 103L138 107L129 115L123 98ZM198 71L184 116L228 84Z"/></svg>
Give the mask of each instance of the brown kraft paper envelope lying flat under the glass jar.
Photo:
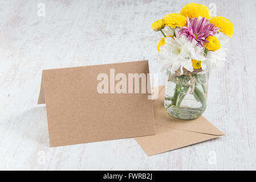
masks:
<svg viewBox="0 0 256 182"><path fill-rule="evenodd" d="M224 135L204 117L181 120L170 117L164 108L164 86L153 101L156 135L135 138L148 156L171 151Z"/></svg>

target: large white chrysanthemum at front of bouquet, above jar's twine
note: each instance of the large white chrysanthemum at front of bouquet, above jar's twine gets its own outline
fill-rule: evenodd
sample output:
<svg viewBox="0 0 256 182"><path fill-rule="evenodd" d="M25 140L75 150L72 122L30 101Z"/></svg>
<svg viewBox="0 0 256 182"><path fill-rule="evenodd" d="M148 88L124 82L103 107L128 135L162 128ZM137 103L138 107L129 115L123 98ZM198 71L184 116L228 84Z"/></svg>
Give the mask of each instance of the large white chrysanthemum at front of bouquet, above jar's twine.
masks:
<svg viewBox="0 0 256 182"><path fill-rule="evenodd" d="M177 34L176 34L177 35ZM162 69L172 65L171 72L174 73L178 68L186 68L193 72L192 59L204 61L204 51L202 47L196 45L196 41L190 42L184 36L180 38L166 37L164 46L160 47L160 60L162 61Z"/></svg>

